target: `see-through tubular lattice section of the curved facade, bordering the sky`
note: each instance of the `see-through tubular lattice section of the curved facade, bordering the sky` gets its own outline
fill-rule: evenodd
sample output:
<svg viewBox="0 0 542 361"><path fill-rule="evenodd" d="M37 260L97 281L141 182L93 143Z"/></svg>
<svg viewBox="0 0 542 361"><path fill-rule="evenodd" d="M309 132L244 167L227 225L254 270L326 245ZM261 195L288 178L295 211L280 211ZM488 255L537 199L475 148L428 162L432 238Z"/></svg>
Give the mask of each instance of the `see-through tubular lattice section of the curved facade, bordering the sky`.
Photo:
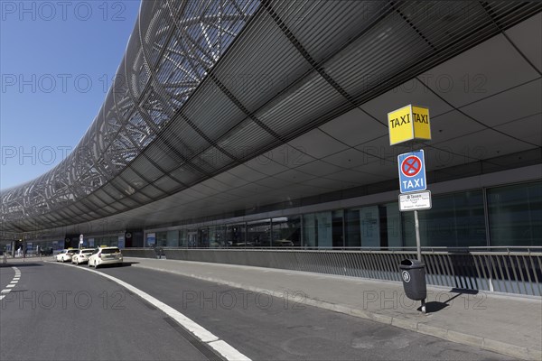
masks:
<svg viewBox="0 0 542 361"><path fill-rule="evenodd" d="M51 171L2 192L4 230L65 225L145 203L107 206L156 180L130 164L173 119L257 6L254 0L143 2L115 81L78 146ZM131 179L111 183L123 170ZM106 184L108 192L89 198Z"/></svg>

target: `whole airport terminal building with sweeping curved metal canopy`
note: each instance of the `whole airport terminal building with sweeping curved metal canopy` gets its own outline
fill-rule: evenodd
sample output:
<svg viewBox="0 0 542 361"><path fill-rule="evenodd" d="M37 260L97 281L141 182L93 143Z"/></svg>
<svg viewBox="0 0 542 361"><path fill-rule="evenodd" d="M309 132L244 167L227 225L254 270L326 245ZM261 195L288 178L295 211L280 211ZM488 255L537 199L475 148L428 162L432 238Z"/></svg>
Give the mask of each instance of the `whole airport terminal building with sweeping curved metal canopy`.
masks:
<svg viewBox="0 0 542 361"><path fill-rule="evenodd" d="M416 245L397 156L422 149L434 283L540 295L541 3L143 1L116 79L67 159L2 191L8 248L83 234L395 280ZM410 104L431 140L390 145L388 113Z"/></svg>

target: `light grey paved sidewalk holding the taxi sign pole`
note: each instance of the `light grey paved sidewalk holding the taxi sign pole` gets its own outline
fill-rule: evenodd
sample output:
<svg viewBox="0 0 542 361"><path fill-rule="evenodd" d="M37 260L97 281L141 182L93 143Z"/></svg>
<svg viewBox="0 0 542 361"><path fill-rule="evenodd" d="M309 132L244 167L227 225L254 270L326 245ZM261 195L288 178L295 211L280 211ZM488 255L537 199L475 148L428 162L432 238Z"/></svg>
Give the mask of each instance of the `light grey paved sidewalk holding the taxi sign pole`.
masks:
<svg viewBox="0 0 542 361"><path fill-rule="evenodd" d="M542 299L428 287L427 314L401 283L231 264L125 257L133 267L266 292L503 355L542 360Z"/></svg>

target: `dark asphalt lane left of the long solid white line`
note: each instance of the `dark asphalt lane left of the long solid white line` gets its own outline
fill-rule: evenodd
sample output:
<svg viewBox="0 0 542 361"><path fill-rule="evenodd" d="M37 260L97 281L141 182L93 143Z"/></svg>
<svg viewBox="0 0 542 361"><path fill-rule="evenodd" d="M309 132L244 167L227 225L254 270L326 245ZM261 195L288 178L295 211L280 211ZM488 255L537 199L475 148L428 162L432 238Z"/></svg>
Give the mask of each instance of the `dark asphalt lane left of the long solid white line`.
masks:
<svg viewBox="0 0 542 361"><path fill-rule="evenodd" d="M16 266L21 280L0 301L0 360L208 359L114 282L75 266ZM0 273L4 284L14 271Z"/></svg>

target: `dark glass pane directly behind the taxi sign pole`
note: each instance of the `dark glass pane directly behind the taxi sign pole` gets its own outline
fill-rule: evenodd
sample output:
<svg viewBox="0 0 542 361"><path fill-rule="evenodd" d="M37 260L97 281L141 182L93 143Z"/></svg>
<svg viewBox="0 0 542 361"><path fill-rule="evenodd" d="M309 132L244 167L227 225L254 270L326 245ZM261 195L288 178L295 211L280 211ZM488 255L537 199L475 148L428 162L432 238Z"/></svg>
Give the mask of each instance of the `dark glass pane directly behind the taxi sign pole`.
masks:
<svg viewBox="0 0 542 361"><path fill-rule="evenodd" d="M414 212L402 212L406 246L416 246ZM418 211L422 246L487 245L481 190L434 196L432 208Z"/></svg>

